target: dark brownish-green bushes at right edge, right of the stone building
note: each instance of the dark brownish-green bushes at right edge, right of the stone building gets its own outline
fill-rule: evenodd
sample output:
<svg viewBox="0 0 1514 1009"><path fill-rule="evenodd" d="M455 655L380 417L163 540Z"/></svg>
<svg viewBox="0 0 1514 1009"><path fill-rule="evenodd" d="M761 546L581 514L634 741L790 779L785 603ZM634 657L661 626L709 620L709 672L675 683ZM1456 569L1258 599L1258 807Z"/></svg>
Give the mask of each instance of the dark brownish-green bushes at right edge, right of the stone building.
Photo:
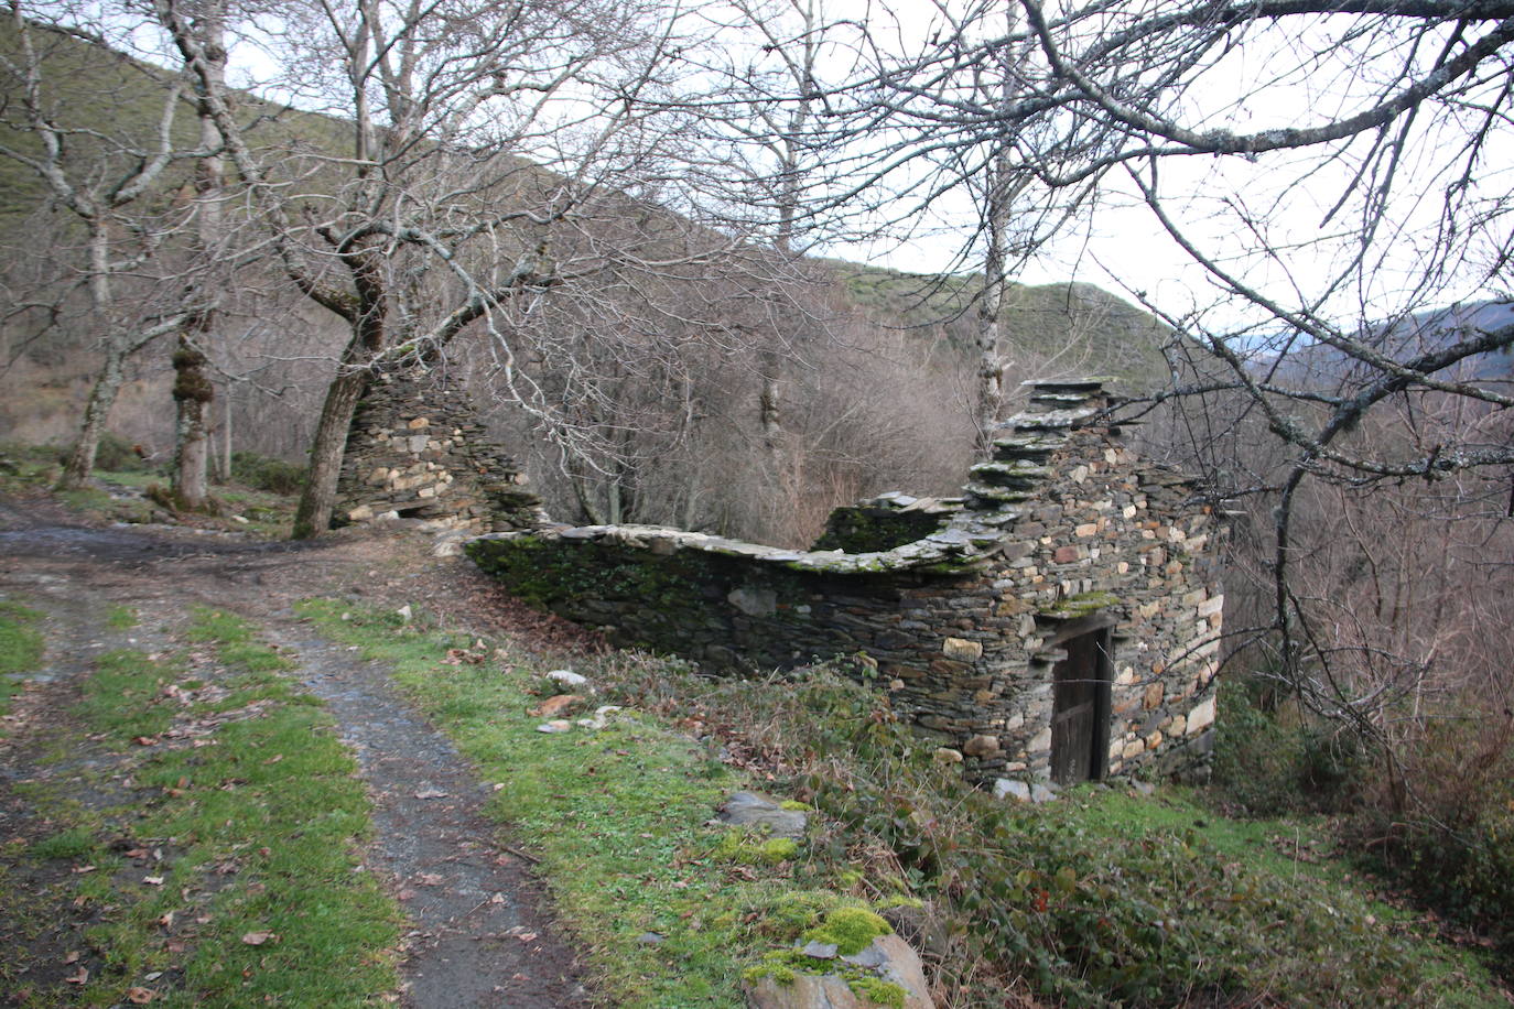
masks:
<svg viewBox="0 0 1514 1009"><path fill-rule="evenodd" d="M1514 747L1511 723L1475 696L1403 711L1407 732L1384 773L1381 753L1313 717L1276 678L1232 676L1219 719L1216 788L1249 815L1328 812L1357 861L1488 944L1514 979ZM1505 713L1506 716L1506 713Z"/></svg>

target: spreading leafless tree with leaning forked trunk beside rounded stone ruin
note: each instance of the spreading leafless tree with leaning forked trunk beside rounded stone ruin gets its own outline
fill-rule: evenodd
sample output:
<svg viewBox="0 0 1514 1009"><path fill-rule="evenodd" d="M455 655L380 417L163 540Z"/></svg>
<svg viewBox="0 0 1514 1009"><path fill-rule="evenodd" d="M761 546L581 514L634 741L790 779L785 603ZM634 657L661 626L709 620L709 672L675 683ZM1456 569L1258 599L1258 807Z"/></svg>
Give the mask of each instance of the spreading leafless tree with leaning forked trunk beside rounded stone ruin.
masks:
<svg viewBox="0 0 1514 1009"><path fill-rule="evenodd" d="M497 390L569 455L592 458L586 446L609 451L610 439L568 405L600 395L590 362L603 359L562 354L569 334L554 319L622 339L627 359L663 327L736 333L692 319L663 283L730 259L748 269L751 259L736 256L742 234L662 209L692 206L669 154L687 118L668 100L665 74L693 44L662 6L291 8L274 45L286 57L280 83L339 112L351 138L350 156L307 153L294 168L309 174L306 195L288 185L289 159L263 163L239 135L179 0L157 9L285 272L350 330L297 536L329 525L347 427L374 368L436 366L477 330L492 345ZM575 395L548 392L545 360L562 363L551 380Z"/></svg>

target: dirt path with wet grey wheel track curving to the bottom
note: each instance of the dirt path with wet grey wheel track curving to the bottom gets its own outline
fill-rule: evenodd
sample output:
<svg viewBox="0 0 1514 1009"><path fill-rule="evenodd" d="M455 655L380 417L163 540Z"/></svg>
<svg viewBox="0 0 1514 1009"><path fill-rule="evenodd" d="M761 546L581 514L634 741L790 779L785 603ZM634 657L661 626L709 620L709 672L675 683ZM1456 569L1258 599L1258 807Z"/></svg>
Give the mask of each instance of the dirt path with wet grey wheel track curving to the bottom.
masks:
<svg viewBox="0 0 1514 1009"><path fill-rule="evenodd" d="M498 843L481 814L491 787L451 743L360 661L300 623L291 608L315 595L382 599L466 590L457 561L435 561L427 540L395 532L282 545L226 536L70 525L45 507L0 502L0 591L47 614L51 684L18 706L47 725L68 702L92 652L167 640L194 605L238 613L298 661L353 749L374 802L366 865L391 880L409 920L404 1003L425 1007L586 1006L572 950L542 911L521 855ZM447 570L456 567L456 570ZM466 607L459 598L459 607ZM106 632L112 604L133 607L139 629ZM0 761L23 759L15 747ZM0 767L0 787L21 768Z"/></svg>

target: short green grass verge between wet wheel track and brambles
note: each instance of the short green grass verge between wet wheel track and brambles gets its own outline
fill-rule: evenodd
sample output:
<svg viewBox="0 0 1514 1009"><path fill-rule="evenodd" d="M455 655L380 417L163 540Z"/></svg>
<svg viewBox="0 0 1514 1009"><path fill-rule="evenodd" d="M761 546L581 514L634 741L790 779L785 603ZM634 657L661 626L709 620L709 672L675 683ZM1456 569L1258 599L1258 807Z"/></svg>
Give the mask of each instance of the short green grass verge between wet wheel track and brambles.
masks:
<svg viewBox="0 0 1514 1009"><path fill-rule="evenodd" d="M716 806L746 782L645 711L600 731L542 734L542 719L525 711L556 666L486 655L472 637L392 613L332 601L301 613L391 666L495 782L491 814L540 859L557 912L613 1004L742 1006L742 973L765 953L790 947L828 912L866 905L845 893L843 864L828 849L816 855L813 840L712 826Z"/></svg>

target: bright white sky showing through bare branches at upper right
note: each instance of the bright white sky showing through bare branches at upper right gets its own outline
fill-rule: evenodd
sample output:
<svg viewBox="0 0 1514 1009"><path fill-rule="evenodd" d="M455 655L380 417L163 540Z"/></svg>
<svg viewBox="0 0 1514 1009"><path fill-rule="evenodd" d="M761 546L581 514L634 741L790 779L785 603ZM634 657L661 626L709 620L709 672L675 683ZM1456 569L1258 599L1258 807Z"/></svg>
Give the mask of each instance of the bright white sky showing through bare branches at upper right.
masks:
<svg viewBox="0 0 1514 1009"><path fill-rule="evenodd" d="M878 18L880 5L869 0L825 0L834 17ZM930 0L890 0L905 27L904 45L917 42L936 29L939 15ZM1305 127L1360 107L1352 95L1370 92L1379 71L1397 71L1402 53L1360 53L1341 44L1338 29L1344 20L1320 21L1299 30L1290 24L1270 36L1252 38L1232 51L1211 73L1204 92L1205 107L1187 110L1190 124L1223 124L1237 130L1267 127ZM884 23L892 18L884 17ZM1354 23L1354 21L1352 21ZM1478 32L1473 32L1473 36ZM1429 47L1426 47L1429 48ZM1323 53L1325 57L1317 56ZM1310 62L1313 61L1313 62ZM1267 82L1266 91L1254 82ZM1425 256L1440 225L1441 194L1449 177L1446 165L1466 139L1461 127L1428 129L1429 115L1416 123L1420 133L1399 169L1394 203L1378 231L1376 256L1364 280L1337 289L1328 306L1341 319L1382 318L1408 303L1423 277ZM1304 168L1314 166L1314 153L1279 154L1246 163L1240 159L1185 157L1163 163L1166 210L1192 239L1211 251L1246 283L1261 287L1281 303L1296 306L1317 296L1328 277L1341 274L1349 245L1331 241L1350 233L1354 221L1331 207L1346 189L1352 169L1346 163L1319 169L1304 186L1291 185ZM1136 197L1129 182L1113 180L1099 200L1098 210L1079 228L1069 228L1048 245L1017 278L1025 283L1084 280L1111 290L1143 292L1164 310L1182 315L1216 300L1213 278L1192 262L1160 222ZM1472 191L1493 204L1514 189L1514 142L1494 135L1472 180ZM970 204L940 201L933 207L943 227L931 234L889 247L827 250L846 259L871 259L880 265L914 272L948 268L960 253L963 233L974 219ZM952 221L961 222L951 228ZM1261 231L1261 228L1266 228ZM1272 259L1248 254L1261 234L1282 250ZM1488 244L1506 242L1508 225L1494 221ZM1478 263L1459 277L1449 278L1443 300L1488 296L1496 287L1475 280ZM1229 325L1254 313L1231 300L1216 318Z"/></svg>

